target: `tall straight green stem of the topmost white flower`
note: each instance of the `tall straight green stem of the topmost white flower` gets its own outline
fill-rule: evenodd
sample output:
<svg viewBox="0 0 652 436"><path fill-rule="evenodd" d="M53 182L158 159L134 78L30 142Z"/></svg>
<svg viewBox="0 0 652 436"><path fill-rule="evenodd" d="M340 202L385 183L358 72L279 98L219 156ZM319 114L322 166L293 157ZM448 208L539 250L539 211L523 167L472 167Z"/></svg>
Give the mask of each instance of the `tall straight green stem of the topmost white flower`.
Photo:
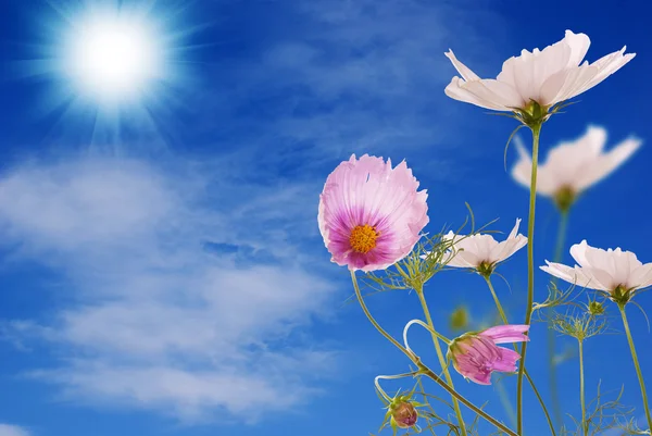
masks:
<svg viewBox="0 0 652 436"><path fill-rule="evenodd" d="M539 160L539 135L541 124L534 125L532 130L532 170L530 177L530 204L527 219L527 307L525 309L525 324L529 325L532 317L532 303L535 301L535 210L537 207L537 164ZM518 368L518 382L516 384L516 432L523 434L523 375L525 372L525 358L527 341L521 344L521 365Z"/></svg>

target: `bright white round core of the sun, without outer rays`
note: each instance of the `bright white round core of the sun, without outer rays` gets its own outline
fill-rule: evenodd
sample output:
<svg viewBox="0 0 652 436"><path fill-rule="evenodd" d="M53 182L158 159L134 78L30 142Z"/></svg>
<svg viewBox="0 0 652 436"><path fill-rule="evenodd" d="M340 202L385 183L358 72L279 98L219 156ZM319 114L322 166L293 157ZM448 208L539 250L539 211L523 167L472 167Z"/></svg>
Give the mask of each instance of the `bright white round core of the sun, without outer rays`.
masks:
<svg viewBox="0 0 652 436"><path fill-rule="evenodd" d="M68 76L101 101L133 99L161 70L155 39L141 21L108 14L86 18L68 37Z"/></svg>

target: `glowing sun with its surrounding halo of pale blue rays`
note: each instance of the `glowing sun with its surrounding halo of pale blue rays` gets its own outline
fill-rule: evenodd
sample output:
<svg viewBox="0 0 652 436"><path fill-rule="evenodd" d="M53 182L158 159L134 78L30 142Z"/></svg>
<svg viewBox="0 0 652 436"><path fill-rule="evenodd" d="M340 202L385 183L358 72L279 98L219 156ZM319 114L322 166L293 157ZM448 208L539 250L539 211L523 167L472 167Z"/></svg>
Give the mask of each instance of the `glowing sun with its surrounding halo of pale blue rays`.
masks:
<svg viewBox="0 0 652 436"><path fill-rule="evenodd" d="M176 114L192 110L205 28L193 0L24 3L34 32L13 67L41 87L32 113L48 120L48 138L120 152L140 138L143 147L172 140Z"/></svg>

